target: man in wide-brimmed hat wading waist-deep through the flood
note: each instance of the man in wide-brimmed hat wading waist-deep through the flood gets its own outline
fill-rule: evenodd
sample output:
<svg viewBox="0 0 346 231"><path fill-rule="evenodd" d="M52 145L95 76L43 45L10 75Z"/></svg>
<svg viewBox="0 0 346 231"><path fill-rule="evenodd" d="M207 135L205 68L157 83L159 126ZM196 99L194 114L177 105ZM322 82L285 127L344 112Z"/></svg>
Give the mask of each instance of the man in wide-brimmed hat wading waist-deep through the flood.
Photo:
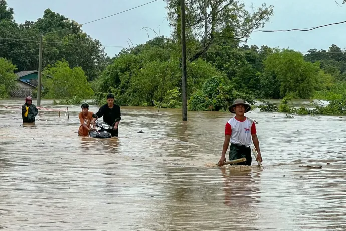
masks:
<svg viewBox="0 0 346 231"><path fill-rule="evenodd" d="M256 125L253 120L244 116L250 109L250 105L246 104L243 99L235 100L228 108L236 116L230 119L225 126L225 141L219 160L220 166L224 165L226 161L225 155L230 142L230 161L245 157L246 162L238 163L238 165L251 165L251 138L258 153L256 161L259 160L262 162L259 141L256 134Z"/></svg>

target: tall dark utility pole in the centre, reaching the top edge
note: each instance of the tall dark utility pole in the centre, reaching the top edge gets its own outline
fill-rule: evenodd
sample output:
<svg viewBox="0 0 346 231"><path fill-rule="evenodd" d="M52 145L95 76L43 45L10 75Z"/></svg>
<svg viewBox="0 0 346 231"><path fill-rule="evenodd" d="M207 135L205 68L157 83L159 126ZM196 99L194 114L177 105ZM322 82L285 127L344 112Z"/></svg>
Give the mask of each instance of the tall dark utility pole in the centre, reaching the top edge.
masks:
<svg viewBox="0 0 346 231"><path fill-rule="evenodd" d="M182 22L182 102L183 121L188 120L188 98L186 90L186 41L185 41L185 0L181 0Z"/></svg>

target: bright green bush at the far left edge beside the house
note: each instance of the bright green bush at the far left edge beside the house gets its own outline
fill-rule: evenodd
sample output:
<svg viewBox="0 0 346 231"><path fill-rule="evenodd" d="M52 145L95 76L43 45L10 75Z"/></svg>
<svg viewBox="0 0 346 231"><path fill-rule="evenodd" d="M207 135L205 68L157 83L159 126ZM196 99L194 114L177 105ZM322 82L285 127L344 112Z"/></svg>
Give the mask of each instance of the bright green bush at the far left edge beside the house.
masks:
<svg viewBox="0 0 346 231"><path fill-rule="evenodd" d="M11 90L16 88L16 67L7 59L0 58L0 98L10 96Z"/></svg>

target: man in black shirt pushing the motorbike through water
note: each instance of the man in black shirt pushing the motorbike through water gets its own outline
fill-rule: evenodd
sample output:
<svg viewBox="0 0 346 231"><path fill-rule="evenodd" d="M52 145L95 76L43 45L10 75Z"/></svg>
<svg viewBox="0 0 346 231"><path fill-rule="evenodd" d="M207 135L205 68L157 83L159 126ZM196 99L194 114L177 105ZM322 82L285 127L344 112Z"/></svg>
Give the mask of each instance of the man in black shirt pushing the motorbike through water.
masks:
<svg viewBox="0 0 346 231"><path fill-rule="evenodd" d="M113 129L109 130L112 137L118 137L119 129L118 124L121 120L120 106L114 104L114 95L107 95L107 104L100 107L96 112L97 118L103 116L103 122L106 122L110 126L113 126ZM92 123L97 119L93 118Z"/></svg>

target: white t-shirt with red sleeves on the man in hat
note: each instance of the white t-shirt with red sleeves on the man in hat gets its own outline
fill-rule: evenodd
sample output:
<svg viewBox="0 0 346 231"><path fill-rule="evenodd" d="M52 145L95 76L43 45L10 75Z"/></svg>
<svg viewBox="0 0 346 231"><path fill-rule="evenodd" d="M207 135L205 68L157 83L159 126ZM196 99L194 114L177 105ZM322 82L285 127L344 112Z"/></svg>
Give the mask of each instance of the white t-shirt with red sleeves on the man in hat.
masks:
<svg viewBox="0 0 346 231"><path fill-rule="evenodd" d="M250 147L251 134L256 134L256 125L250 118L245 117L243 121L238 121L233 117L226 123L225 135L231 135L230 142L233 144Z"/></svg>

